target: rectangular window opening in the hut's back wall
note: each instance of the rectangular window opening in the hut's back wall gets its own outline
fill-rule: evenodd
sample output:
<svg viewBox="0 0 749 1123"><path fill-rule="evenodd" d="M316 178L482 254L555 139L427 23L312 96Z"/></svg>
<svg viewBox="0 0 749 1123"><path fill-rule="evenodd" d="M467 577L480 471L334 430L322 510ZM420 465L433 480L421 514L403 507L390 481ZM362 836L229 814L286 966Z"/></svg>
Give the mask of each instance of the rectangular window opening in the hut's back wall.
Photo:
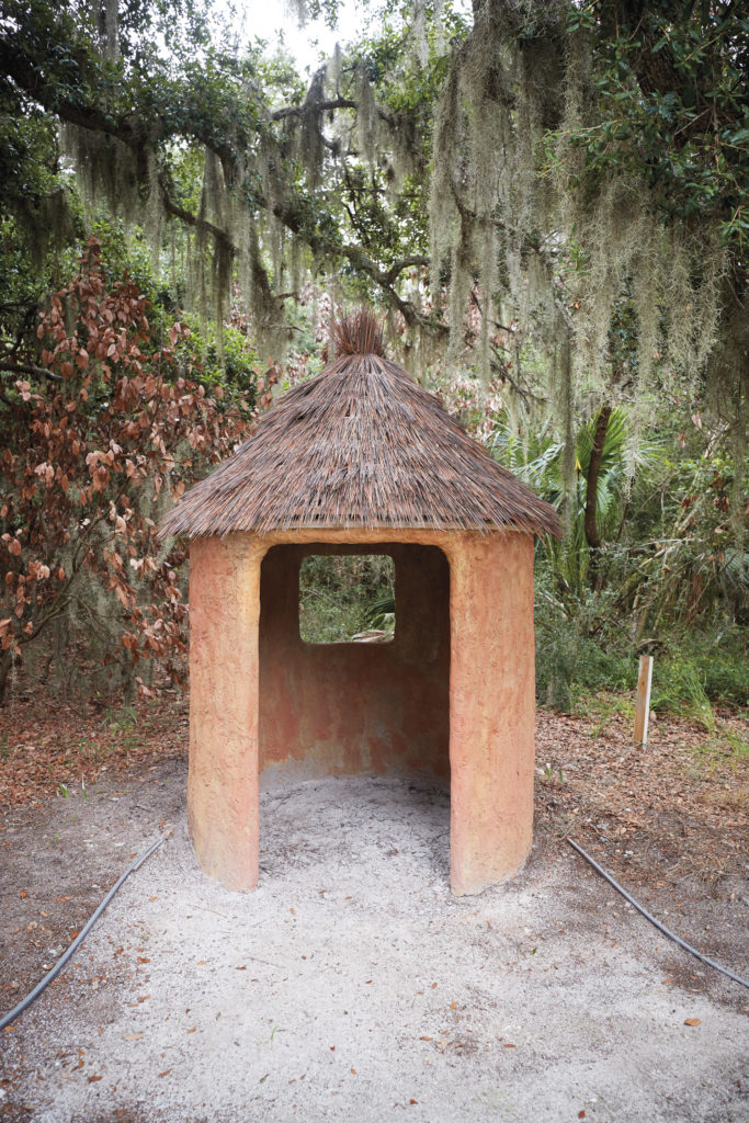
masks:
<svg viewBox="0 0 749 1123"><path fill-rule="evenodd" d="M395 636L395 565L389 554L310 554L299 573L305 643L389 643Z"/></svg>

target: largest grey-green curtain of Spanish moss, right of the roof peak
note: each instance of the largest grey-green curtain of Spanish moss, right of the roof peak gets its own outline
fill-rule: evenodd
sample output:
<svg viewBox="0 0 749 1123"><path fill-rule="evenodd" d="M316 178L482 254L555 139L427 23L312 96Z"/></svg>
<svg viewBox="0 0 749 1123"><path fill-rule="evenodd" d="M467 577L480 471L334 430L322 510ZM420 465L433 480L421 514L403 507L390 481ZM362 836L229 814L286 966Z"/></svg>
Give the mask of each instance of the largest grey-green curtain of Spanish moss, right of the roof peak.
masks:
<svg viewBox="0 0 749 1123"><path fill-rule="evenodd" d="M484 378L497 305L517 322L518 339L546 355L572 480L576 411L620 398L645 418L656 366L693 385L704 372L721 335L725 256L685 223L666 221L624 161L600 180L586 173L576 135L595 119L596 90L584 30L555 33L555 6L539 17L548 35L523 27L522 6L481 3L474 15L436 112L432 296L438 303L447 282L455 345L477 281ZM633 357L625 375L614 330L624 308Z"/></svg>

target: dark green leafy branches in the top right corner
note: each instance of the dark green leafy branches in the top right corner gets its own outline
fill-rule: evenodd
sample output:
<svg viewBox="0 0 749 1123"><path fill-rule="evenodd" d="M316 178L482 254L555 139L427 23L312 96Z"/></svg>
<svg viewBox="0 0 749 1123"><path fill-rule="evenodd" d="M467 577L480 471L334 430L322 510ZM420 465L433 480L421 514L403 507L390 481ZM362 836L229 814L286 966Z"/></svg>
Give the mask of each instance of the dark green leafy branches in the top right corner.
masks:
<svg viewBox="0 0 749 1123"><path fill-rule="evenodd" d="M749 19L715 3L645 6L637 20L622 20L623 11L611 4L597 20L579 9L568 17L569 31L591 36L601 61L595 84L602 120L573 130L572 143L585 152L591 173L634 171L667 214L691 222L716 218L721 238L742 246L749 231L742 191L749 179L742 92ZM661 158L651 158L658 149Z"/></svg>

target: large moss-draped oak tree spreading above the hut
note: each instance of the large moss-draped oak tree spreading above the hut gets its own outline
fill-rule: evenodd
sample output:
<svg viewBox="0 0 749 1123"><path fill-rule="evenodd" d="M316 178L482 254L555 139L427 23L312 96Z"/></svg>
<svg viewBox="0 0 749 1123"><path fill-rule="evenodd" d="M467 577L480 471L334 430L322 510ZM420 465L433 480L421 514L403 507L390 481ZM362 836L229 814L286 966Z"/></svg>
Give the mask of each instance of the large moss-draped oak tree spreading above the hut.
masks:
<svg viewBox="0 0 749 1123"><path fill-rule="evenodd" d="M0 92L35 135L62 122L80 182L147 214L156 248L159 216L191 231L195 292L220 321L236 275L276 349L300 273L328 268L412 334L440 339L449 321L454 354L467 329L487 377L551 398L568 444L586 395L641 403L661 372L687 392L704 375L723 400L728 387L737 417L749 229L737 6L475 0L471 27L417 8L411 27L391 4L378 37L304 90L283 63L211 44L189 0L120 4L109 24L77 0L54 16L11 0ZM172 30L162 56L147 36L170 20L188 42ZM204 156L199 198L185 150ZM414 289L427 270L429 301ZM611 337L627 308L637 364L622 380ZM541 346L549 385L523 378L509 328Z"/></svg>

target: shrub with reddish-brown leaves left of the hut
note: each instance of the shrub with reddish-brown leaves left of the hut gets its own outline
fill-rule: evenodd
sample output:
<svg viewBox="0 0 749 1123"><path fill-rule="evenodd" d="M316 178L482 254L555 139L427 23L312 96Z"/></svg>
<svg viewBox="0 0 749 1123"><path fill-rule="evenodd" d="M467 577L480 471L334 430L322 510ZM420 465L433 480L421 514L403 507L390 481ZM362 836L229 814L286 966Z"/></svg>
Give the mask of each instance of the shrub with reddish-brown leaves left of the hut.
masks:
<svg viewBox="0 0 749 1123"><path fill-rule="evenodd" d="M162 547L157 521L231 449L249 411L179 369L183 323L154 347L147 312L127 279L106 290L91 240L39 321L44 365L18 362L3 385L0 697L24 648L55 622L65 648L103 640L118 684L152 656L173 678L184 674L182 554Z"/></svg>

